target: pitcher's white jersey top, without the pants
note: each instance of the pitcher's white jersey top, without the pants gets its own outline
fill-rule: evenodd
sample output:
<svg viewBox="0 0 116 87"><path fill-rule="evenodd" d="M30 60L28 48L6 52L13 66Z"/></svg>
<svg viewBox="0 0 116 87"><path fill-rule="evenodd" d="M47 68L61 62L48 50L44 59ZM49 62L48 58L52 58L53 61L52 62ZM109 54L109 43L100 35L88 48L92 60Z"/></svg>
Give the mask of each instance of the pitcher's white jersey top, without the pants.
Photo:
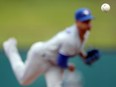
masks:
<svg viewBox="0 0 116 87"><path fill-rule="evenodd" d="M85 33L84 41L81 42L79 31L75 25L66 28L58 33L51 40L45 42L44 48L47 58L56 60L58 53L66 56L75 56L83 50L89 31Z"/></svg>

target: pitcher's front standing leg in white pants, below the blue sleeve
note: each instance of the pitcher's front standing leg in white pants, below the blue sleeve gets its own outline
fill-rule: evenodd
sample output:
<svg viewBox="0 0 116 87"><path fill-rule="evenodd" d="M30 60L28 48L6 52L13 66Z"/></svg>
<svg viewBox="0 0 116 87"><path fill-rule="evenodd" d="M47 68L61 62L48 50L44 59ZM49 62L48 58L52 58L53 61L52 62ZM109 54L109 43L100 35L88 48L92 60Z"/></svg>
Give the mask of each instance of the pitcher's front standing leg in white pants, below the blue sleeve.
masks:
<svg viewBox="0 0 116 87"><path fill-rule="evenodd" d="M59 67L50 67L45 73L47 87L62 87L63 70Z"/></svg>

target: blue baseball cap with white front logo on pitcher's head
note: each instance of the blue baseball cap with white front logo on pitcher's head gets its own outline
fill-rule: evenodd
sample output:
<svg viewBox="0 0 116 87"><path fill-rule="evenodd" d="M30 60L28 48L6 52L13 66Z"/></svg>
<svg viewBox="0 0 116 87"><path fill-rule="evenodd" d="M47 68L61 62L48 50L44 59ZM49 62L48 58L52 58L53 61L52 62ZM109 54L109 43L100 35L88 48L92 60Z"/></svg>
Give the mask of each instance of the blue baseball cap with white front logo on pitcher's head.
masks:
<svg viewBox="0 0 116 87"><path fill-rule="evenodd" d="M80 8L75 12L75 20L77 21L87 21L92 20L93 16L88 8Z"/></svg>

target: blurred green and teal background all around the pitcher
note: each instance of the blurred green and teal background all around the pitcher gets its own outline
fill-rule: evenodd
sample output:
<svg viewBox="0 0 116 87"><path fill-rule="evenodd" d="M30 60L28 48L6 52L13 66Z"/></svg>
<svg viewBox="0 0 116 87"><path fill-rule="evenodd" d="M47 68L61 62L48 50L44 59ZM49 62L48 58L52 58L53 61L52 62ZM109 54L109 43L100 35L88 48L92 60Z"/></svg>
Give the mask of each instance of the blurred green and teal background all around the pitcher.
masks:
<svg viewBox="0 0 116 87"><path fill-rule="evenodd" d="M103 3L111 11L103 13ZM95 16L86 49L101 50L101 60L88 67L79 58L71 61L81 71L84 87L116 87L116 0L0 0L0 87L21 87L3 52L2 43L9 37L18 40L25 60L27 50L37 41L45 41L74 23L74 12L81 7L92 10ZM29 87L46 87L42 75Z"/></svg>

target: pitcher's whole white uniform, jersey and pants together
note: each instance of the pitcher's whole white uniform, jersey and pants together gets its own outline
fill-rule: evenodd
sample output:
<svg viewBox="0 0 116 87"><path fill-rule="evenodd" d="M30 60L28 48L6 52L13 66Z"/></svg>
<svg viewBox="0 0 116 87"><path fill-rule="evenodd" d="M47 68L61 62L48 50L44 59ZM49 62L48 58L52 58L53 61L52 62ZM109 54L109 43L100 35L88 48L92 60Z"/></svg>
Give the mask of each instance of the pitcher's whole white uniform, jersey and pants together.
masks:
<svg viewBox="0 0 116 87"><path fill-rule="evenodd" d="M77 55L84 48L87 37L88 32L85 33L84 41L81 42L79 31L73 25L49 41L33 44L25 62L22 61L18 52L15 39L5 41L3 47L20 84L28 85L44 73L47 87L62 87L62 69L51 65L45 59L57 62L58 53L66 56Z"/></svg>

